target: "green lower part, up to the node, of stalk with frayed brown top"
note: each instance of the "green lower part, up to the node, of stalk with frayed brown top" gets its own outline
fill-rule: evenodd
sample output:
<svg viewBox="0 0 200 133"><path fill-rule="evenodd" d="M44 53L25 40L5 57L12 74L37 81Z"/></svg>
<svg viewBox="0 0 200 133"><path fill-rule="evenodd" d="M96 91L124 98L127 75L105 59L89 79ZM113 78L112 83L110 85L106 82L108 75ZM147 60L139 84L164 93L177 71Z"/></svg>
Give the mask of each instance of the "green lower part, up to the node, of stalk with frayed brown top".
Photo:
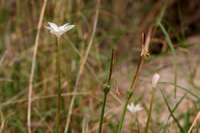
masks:
<svg viewBox="0 0 200 133"><path fill-rule="evenodd" d="M121 118L121 120L119 122L117 133L121 133L122 125L123 125L125 114L126 114L126 110L127 110L127 105L128 105L128 102L129 102L131 96L133 95L133 91L132 90L127 90L127 94L128 94L128 96L127 96L127 99L126 99L126 103L124 105L124 110L122 112L122 118Z"/></svg>

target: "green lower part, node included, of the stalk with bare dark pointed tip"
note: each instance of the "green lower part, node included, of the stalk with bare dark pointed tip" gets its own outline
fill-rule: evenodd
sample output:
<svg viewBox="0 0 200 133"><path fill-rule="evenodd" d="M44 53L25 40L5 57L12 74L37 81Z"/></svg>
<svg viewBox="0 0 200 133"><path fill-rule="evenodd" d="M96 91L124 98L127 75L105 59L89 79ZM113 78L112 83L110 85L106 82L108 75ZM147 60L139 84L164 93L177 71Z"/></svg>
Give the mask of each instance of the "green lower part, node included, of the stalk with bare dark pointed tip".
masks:
<svg viewBox="0 0 200 133"><path fill-rule="evenodd" d="M108 94L109 90L110 90L110 86L104 85L104 99L103 99L103 105L102 105L102 110L101 110L101 118L100 118L98 133L102 132L103 116L104 116L104 110L105 110L105 106L106 106L107 94Z"/></svg>

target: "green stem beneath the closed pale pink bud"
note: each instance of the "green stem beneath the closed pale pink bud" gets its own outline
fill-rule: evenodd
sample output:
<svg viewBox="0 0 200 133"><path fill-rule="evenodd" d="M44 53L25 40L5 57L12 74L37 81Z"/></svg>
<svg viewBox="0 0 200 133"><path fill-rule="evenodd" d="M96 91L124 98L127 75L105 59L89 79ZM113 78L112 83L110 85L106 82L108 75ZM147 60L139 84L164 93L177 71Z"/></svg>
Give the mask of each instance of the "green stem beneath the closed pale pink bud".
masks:
<svg viewBox="0 0 200 133"><path fill-rule="evenodd" d="M148 119L147 119L147 123L146 123L145 133L148 133L149 122L150 122L150 119L151 119L152 106L153 106L154 97L155 97L155 93L156 93L156 88L153 87L152 89L153 89L152 90L152 97L151 97L151 102L150 102L150 107L149 107L149 112L148 112Z"/></svg>

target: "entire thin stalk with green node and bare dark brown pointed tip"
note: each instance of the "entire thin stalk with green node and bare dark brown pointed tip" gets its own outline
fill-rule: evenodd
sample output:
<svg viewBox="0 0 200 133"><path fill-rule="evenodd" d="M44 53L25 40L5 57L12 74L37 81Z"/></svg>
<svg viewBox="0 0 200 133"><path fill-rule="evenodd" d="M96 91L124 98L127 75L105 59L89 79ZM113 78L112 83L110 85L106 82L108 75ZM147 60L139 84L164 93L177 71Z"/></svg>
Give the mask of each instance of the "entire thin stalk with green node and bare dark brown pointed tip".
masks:
<svg viewBox="0 0 200 133"><path fill-rule="evenodd" d="M98 133L102 132L104 110L105 110L105 106L106 106L107 95L108 95L108 92L110 91L110 81L111 81L111 76L112 76L113 62L114 62L114 52L112 49L112 58L110 61L110 72L109 72L109 76L108 76L108 81L107 81L107 84L105 84L104 88L103 88L104 89L104 99L103 99L103 105L102 105L102 110L101 110Z"/></svg>

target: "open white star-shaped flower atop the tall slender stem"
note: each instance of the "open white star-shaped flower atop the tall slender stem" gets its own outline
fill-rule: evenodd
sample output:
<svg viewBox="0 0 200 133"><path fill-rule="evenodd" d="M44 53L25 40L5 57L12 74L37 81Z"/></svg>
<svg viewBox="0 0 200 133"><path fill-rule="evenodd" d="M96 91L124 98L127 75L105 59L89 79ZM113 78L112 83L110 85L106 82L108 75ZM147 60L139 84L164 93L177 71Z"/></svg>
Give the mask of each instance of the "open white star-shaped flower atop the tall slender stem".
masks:
<svg viewBox="0 0 200 133"><path fill-rule="evenodd" d="M63 33L71 30L74 25L69 25L68 23L62 25L62 26L57 26L55 23L48 22L49 26L46 26L48 30L57 37L60 37Z"/></svg>

